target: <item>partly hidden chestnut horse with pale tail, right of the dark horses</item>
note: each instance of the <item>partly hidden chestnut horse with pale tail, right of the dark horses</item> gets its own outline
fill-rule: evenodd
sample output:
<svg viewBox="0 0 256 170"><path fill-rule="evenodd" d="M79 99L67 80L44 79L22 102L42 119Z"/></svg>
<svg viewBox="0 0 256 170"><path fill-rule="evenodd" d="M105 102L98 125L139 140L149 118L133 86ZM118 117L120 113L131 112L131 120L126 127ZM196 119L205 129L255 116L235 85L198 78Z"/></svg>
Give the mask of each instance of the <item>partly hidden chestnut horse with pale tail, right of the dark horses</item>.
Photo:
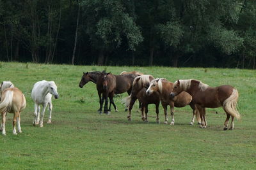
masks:
<svg viewBox="0 0 256 170"><path fill-rule="evenodd" d="M125 104L125 106L128 107L128 115L127 118L129 121L131 121L131 110L132 110L132 106L135 103L136 99L138 99L137 94L140 92L141 89L148 88L150 81L152 81L154 79L153 76L151 75L141 75L141 76L137 76L133 83L132 83L132 90L131 90L131 94L128 97L125 97L124 99L122 99L122 103Z"/></svg>

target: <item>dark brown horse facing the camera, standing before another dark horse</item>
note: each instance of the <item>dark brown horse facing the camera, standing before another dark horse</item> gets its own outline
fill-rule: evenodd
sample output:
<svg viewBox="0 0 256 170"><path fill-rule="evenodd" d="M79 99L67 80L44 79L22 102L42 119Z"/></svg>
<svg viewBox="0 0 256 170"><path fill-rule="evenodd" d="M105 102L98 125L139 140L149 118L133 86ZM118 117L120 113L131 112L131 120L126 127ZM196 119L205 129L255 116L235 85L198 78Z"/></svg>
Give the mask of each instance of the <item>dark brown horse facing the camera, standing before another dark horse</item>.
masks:
<svg viewBox="0 0 256 170"><path fill-rule="evenodd" d="M108 110L108 97L110 103L113 104L115 110L116 110L116 105L113 101L113 97L115 94L115 88L116 88L116 77L113 76L111 73L106 73L105 71L102 71L100 74L98 80L97 80L97 91L99 95L99 103L100 103L100 109L98 110L99 113L102 113L102 105L105 101L104 105L104 113L109 114L110 111ZM101 98L102 95L102 98Z"/></svg>

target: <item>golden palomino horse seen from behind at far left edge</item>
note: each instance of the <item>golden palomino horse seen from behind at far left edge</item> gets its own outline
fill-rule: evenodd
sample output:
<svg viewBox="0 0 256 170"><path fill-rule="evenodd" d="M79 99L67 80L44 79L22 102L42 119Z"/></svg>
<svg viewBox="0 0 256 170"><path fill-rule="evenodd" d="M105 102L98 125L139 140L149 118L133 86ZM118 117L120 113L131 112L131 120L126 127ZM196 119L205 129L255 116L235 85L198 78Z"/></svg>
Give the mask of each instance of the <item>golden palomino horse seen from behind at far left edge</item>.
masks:
<svg viewBox="0 0 256 170"><path fill-rule="evenodd" d="M9 87L8 87L9 86ZM8 87L8 88L6 88ZM6 114L13 113L13 134L21 133L20 128L20 112L26 108L26 98L24 94L10 81L3 81L0 87L1 91L1 103L0 113L2 115L2 124L0 130L3 135L5 132ZM3 90L4 89L4 90ZM18 131L16 132L16 122Z"/></svg>

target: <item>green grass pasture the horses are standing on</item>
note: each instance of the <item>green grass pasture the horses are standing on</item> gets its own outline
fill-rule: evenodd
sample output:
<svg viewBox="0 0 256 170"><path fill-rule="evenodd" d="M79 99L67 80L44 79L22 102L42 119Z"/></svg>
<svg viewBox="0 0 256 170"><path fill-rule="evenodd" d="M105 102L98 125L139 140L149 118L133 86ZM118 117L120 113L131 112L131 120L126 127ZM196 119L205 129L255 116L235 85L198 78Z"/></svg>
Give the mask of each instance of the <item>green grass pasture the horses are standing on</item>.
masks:
<svg viewBox="0 0 256 170"><path fill-rule="evenodd" d="M156 124L154 106L149 123L140 119L138 103L132 122L115 97L118 113L99 115L95 84L78 87L83 71L100 66L68 66L0 62L0 81L11 80L24 92L27 108L21 114L22 134L13 136L12 115L6 136L0 136L1 169L255 169L256 167L256 71L246 69L106 67L113 74L140 71L170 81L195 78L211 86L232 85L239 91L241 122L234 131L223 131L222 108L207 109L207 129L189 125L191 109L175 109L175 125ZM52 124L33 127L31 89L36 81L54 80L60 99L52 99ZM218 114L215 112L218 111ZM170 120L170 113L168 113Z"/></svg>

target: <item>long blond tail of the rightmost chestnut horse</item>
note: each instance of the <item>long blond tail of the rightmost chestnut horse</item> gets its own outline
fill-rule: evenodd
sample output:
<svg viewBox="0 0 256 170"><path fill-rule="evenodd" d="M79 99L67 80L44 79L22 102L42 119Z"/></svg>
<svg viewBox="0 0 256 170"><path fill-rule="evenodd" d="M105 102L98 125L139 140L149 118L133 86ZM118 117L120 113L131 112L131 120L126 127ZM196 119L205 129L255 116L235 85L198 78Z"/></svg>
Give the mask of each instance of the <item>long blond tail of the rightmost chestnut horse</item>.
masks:
<svg viewBox="0 0 256 170"><path fill-rule="evenodd" d="M241 115L236 108L238 97L239 97L238 91L236 89L233 89L232 94L223 102L223 108L232 117L236 117L237 120L241 120Z"/></svg>

